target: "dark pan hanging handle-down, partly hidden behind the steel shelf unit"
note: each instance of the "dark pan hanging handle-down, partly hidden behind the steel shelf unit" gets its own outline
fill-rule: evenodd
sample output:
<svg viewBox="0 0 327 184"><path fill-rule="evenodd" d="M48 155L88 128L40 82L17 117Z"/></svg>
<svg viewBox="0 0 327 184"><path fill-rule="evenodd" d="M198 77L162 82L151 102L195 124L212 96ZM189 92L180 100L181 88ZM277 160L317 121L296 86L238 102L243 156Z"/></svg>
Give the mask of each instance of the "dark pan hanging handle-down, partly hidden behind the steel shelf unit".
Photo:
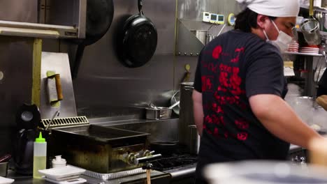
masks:
<svg viewBox="0 0 327 184"><path fill-rule="evenodd" d="M107 33L113 15L114 5L112 0L87 0L85 39L77 40L78 49L72 69L73 79L78 75L78 68L80 68L85 47L96 43Z"/></svg>

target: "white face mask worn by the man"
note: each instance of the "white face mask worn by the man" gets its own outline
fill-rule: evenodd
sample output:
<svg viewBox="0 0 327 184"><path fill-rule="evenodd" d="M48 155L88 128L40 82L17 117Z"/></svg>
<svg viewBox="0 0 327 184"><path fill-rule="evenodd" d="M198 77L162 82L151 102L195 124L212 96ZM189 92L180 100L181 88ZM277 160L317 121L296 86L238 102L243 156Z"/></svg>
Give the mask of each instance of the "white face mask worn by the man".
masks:
<svg viewBox="0 0 327 184"><path fill-rule="evenodd" d="M263 30L263 33L265 34L266 39L267 39L266 42L277 47L280 50L280 52L285 52L288 49L289 44L292 42L293 38L291 36L289 36L288 34L284 33L283 31L279 31L278 27L276 26L276 24L273 20L271 20L271 22L273 22L275 28L278 31L278 37L277 37L277 40L269 40L266 31Z"/></svg>

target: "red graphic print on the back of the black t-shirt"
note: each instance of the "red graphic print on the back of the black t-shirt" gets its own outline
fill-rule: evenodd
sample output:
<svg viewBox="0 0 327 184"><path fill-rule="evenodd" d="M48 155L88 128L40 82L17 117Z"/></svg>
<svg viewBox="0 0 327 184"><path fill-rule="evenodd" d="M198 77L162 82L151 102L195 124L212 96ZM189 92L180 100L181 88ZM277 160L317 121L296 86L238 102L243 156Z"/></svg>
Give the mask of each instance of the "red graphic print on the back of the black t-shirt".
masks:
<svg viewBox="0 0 327 184"><path fill-rule="evenodd" d="M245 109L246 105L240 101L240 96L245 94L241 88L242 78L240 77L240 68L238 62L245 52L244 47L236 48L233 53L223 53L221 45L212 50L212 58L218 61L201 61L206 70L201 78L202 92L212 93L213 100L208 105L203 105L205 109L210 110L204 118L203 129L216 138L238 139L245 141L248 138L247 130L249 123L242 119L230 119L224 121L224 107L226 105L237 105ZM217 84L218 85L217 85ZM231 124L226 124L231 123ZM228 131L227 126L236 126L242 132ZM220 134L220 135L219 135Z"/></svg>

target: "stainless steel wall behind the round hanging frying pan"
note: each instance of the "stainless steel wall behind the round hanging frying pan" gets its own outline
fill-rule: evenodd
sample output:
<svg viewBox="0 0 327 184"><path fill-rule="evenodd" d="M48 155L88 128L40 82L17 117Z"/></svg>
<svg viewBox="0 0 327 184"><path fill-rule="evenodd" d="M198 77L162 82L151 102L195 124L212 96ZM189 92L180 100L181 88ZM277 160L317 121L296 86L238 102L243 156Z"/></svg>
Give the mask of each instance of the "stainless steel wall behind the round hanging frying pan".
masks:
<svg viewBox="0 0 327 184"><path fill-rule="evenodd" d="M74 81L78 114L90 117L140 114L150 102L168 106L170 96L184 76L184 65L191 65L193 81L196 56L174 56L175 15L183 20L202 20L204 10L226 16L235 13L235 1L152 0L143 1L144 13L158 29L154 57L140 68L126 68L115 52L115 37L124 17L138 13L137 1L115 0L115 17L110 31L98 43L87 47L78 79ZM210 24L200 24L207 29ZM226 29L228 30L228 28ZM70 48L70 55L74 50Z"/></svg>

